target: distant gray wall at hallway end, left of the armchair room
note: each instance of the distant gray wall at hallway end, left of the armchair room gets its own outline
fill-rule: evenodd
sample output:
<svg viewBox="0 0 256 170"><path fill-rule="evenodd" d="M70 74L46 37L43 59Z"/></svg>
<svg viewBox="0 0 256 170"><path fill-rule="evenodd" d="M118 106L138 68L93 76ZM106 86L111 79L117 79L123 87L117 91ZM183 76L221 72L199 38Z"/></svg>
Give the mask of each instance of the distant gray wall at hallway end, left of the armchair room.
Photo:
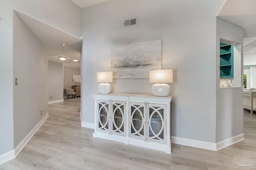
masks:
<svg viewBox="0 0 256 170"><path fill-rule="evenodd" d="M52 99L50 98L52 96ZM48 62L48 102L63 99L63 63Z"/></svg>

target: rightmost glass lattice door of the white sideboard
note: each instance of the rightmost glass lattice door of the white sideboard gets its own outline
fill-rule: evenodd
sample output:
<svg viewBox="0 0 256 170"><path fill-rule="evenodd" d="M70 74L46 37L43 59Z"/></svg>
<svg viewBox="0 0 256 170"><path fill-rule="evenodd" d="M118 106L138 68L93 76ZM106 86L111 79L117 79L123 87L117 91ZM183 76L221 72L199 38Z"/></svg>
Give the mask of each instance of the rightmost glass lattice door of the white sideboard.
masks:
<svg viewBox="0 0 256 170"><path fill-rule="evenodd" d="M166 143L166 105L149 104L149 141Z"/></svg>

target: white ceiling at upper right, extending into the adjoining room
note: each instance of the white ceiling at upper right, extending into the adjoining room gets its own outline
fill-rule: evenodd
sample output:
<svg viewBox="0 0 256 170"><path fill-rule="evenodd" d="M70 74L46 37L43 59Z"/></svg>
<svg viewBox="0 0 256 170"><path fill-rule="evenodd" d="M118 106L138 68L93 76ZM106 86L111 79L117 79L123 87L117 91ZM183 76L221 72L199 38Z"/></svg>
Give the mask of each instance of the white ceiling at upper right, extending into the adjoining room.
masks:
<svg viewBox="0 0 256 170"><path fill-rule="evenodd" d="M226 0L218 17L244 28L244 44L256 38L256 0ZM244 46L244 65L256 65L256 41Z"/></svg>

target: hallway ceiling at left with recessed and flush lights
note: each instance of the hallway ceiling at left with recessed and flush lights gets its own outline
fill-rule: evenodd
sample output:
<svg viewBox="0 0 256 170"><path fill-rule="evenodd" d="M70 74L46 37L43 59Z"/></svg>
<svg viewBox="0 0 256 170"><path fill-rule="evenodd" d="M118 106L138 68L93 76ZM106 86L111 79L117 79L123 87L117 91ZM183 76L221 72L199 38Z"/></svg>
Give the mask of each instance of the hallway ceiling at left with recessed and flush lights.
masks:
<svg viewBox="0 0 256 170"><path fill-rule="evenodd" d="M52 27L42 21L32 18L22 12L16 11L22 20L30 27L36 36L44 43L48 52L48 60L59 63L74 63L80 61L82 40L60 29ZM67 46L60 44L65 43ZM67 57L66 61L60 61L58 57ZM80 63L79 63L80 64Z"/></svg>

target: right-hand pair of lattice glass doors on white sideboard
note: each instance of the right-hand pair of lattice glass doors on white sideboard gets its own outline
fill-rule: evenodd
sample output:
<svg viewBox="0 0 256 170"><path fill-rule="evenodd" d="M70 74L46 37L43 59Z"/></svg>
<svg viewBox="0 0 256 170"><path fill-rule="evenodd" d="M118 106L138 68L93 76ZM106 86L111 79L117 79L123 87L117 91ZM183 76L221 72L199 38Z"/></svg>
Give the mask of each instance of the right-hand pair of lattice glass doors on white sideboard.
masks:
<svg viewBox="0 0 256 170"><path fill-rule="evenodd" d="M129 103L129 137L166 143L166 105Z"/></svg>

